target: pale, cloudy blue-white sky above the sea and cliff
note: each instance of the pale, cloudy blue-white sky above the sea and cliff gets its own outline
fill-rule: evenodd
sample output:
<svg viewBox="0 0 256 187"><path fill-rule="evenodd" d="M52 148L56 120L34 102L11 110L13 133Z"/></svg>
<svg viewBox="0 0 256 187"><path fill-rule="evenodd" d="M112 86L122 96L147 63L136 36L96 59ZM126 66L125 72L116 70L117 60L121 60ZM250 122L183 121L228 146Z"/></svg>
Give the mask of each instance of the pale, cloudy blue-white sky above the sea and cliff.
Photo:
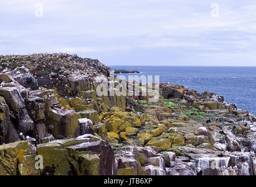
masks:
<svg viewBox="0 0 256 187"><path fill-rule="evenodd" d="M256 1L1 0L0 54L256 66Z"/></svg>

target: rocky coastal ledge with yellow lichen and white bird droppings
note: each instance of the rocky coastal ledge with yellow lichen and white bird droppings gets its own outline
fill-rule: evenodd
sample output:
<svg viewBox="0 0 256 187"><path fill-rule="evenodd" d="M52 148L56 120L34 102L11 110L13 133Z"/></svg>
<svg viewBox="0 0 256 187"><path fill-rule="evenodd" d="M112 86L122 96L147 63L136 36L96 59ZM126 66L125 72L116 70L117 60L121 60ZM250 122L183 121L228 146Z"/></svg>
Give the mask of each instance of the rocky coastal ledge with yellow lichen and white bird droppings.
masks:
<svg viewBox="0 0 256 187"><path fill-rule="evenodd" d="M256 175L256 119L223 96L97 96L93 77L110 70L97 60L0 60L0 175Z"/></svg>

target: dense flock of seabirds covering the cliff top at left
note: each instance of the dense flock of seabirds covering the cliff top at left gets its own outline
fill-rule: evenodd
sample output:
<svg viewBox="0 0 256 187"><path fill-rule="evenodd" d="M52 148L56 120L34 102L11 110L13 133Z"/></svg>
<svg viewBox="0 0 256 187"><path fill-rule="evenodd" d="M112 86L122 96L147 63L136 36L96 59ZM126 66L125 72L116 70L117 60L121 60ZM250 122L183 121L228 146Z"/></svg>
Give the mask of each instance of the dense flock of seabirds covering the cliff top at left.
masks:
<svg viewBox="0 0 256 187"><path fill-rule="evenodd" d="M65 78L71 77L70 75L94 77L100 74L108 75L110 70L109 67L98 60L81 58L76 54L45 53L25 56L0 56L0 70L3 72L22 66L29 68L35 77L40 72L40 74L47 75L49 78Z"/></svg>

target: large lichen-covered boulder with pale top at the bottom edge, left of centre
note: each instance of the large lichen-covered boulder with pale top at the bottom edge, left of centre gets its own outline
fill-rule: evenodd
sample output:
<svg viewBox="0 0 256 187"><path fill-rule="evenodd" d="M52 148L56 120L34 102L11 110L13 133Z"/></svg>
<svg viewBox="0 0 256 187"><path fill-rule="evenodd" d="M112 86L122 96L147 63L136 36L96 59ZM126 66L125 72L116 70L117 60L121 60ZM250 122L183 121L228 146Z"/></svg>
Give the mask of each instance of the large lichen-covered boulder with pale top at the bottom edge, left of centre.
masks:
<svg viewBox="0 0 256 187"><path fill-rule="evenodd" d="M114 153L110 144L91 134L68 140L54 140L37 147L44 168L41 174L112 175Z"/></svg>

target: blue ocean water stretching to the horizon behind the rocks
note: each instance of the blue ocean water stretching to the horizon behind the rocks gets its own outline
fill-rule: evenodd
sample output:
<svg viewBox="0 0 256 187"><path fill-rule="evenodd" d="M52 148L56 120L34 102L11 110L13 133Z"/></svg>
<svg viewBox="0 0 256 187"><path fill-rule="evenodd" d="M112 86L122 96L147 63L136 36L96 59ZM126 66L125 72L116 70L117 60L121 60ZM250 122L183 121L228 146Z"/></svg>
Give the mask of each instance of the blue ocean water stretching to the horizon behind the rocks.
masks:
<svg viewBox="0 0 256 187"><path fill-rule="evenodd" d="M110 66L112 69L133 68L139 74L159 75L160 82L170 82L223 95L226 102L256 115L256 67L185 67L185 66ZM118 74L117 74L118 75Z"/></svg>

